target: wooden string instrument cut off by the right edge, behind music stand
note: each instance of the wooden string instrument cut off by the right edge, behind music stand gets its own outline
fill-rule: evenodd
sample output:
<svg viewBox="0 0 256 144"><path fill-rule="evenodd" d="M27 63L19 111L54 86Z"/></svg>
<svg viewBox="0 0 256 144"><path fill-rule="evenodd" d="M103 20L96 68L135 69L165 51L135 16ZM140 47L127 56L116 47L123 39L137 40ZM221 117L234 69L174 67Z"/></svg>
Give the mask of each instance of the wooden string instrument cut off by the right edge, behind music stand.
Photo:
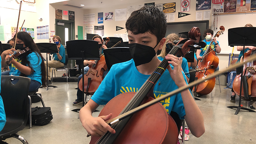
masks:
<svg viewBox="0 0 256 144"><path fill-rule="evenodd" d="M244 61L249 59L251 55L255 55L256 50L249 50L246 53L244 53ZM241 60L243 60L243 56L241 57ZM256 101L256 61L249 62L244 65L243 69L243 75L247 76L247 83L248 83L248 95L249 99L246 99L244 97L244 87L242 86L242 93L241 93L241 98L247 101ZM244 79L245 77L243 77ZM241 82L241 74L236 75L234 81L233 81L233 90L234 92L239 95L240 94L240 82ZM244 80L243 80L244 82Z"/></svg>

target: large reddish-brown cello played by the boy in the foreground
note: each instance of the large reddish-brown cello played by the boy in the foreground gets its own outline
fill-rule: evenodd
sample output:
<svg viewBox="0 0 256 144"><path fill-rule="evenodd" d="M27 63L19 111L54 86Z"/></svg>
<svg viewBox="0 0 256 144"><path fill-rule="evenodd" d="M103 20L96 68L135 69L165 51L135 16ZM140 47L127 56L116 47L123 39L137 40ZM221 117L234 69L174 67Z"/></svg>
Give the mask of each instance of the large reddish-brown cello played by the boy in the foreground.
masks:
<svg viewBox="0 0 256 144"><path fill-rule="evenodd" d="M189 36L193 39L180 41L176 46L172 47L169 54L184 56L189 51L189 46L193 46L199 41L201 33L199 28L194 27L190 30ZM185 42L184 44L181 44ZM169 45L169 44L167 44ZM169 47L169 46L167 46ZM131 109L139 106L141 103L150 101L153 95L153 87L160 76L168 67L168 60L164 58L161 64L149 76L148 80L142 87L135 92L122 93L110 100L101 110L101 115L112 113L112 117L123 114ZM148 95L149 94L149 95ZM148 98L148 97L149 98ZM157 125L156 125L157 123ZM142 127L143 126L143 127ZM176 123L166 112L162 104L157 103L148 107L133 116L119 121L113 125L116 133L106 132L100 138L92 136L90 144L93 143L171 143L176 144L178 138L178 130ZM140 136L138 136L140 135Z"/></svg>

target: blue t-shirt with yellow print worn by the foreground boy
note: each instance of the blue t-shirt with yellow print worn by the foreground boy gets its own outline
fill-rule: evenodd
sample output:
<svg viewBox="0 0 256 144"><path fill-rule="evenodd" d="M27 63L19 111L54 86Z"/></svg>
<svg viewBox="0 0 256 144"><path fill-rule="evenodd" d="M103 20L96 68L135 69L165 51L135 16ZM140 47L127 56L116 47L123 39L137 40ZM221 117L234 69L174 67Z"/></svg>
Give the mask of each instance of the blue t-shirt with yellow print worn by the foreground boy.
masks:
<svg viewBox="0 0 256 144"><path fill-rule="evenodd" d="M100 86L91 97L99 105L107 104L112 98L125 92L137 92L150 75L141 74L135 67L133 59L123 63L112 65L110 71L101 82ZM185 75L183 77L187 82ZM159 85L159 83L161 83ZM178 86L172 80L170 73L166 70L154 86L155 98L176 90ZM184 119L185 109L181 94L160 101L167 113L175 111L180 119Z"/></svg>

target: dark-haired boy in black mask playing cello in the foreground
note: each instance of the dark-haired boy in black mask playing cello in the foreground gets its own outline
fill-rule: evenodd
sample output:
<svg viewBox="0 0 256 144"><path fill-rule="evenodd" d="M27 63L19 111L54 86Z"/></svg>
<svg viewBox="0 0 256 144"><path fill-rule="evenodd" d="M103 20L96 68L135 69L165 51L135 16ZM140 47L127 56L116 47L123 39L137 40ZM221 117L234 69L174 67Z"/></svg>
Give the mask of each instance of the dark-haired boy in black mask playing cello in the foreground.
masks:
<svg viewBox="0 0 256 144"><path fill-rule="evenodd" d="M161 63L157 58L157 51L161 50L165 43L166 28L164 13L154 6L144 6L131 13L126 21L126 30L133 59L113 65L91 100L80 110L80 121L89 134L101 136L107 131L116 133L105 122L112 117L112 114L95 118L92 117L92 113L99 105L107 104L120 93L137 92L140 89ZM173 70L168 65L167 70L155 84L155 98L187 85L178 58L169 54L165 58L171 60L169 64L173 65ZM167 113L175 111L180 119L185 118L194 136L200 137L204 133L203 115L189 89L160 103Z"/></svg>

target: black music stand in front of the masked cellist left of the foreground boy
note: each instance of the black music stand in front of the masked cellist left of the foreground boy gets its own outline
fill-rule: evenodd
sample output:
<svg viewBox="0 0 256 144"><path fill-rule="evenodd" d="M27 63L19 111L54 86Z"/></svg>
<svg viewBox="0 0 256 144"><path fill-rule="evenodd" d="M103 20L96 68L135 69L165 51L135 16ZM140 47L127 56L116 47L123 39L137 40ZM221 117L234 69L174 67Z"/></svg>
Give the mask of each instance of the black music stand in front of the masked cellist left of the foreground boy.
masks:
<svg viewBox="0 0 256 144"><path fill-rule="evenodd" d="M67 54L69 59L81 60L84 65L84 60L100 60L98 42L94 40L69 40L66 42ZM82 68L82 83L83 83L83 107L85 105L84 100L84 68ZM86 97L87 99L87 97ZM74 109L71 111L80 111L80 109Z"/></svg>

